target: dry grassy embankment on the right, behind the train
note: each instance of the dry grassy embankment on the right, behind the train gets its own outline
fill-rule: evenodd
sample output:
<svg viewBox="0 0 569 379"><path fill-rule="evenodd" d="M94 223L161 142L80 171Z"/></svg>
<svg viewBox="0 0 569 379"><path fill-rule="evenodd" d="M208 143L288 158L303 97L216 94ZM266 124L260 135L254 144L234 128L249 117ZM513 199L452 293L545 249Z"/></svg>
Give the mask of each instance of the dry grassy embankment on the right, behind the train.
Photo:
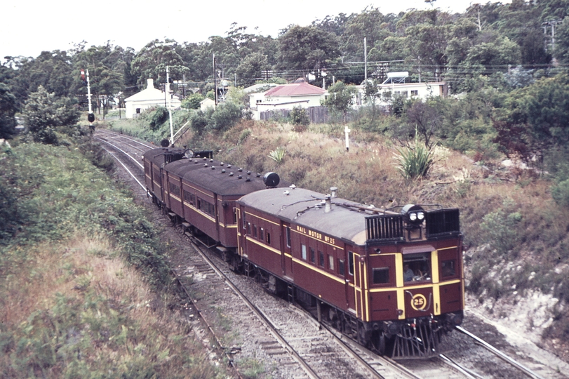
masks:
<svg viewBox="0 0 569 379"><path fill-rule="evenodd" d="M139 135L149 133L141 131L142 120L112 124L119 129L136 125ZM159 128L161 138L169 135L166 124ZM217 159L252 171L276 171L316 191L326 193L336 186L338 196L375 206L458 207L469 293L485 302L490 312L504 300L515 304L528 291L553 295L560 302L546 310L541 321L551 316L553 322L544 333L551 338L569 336L569 317L563 312L569 301L569 218L567 209L551 199L547 176L506 169L499 160L477 163L439 148L427 178L405 180L396 168L396 146L387 135L349 127L349 153L342 125L311 125L297 133L289 124L242 121L225 133L190 131L178 145L213 149ZM279 147L286 154L277 163L269 154Z"/></svg>

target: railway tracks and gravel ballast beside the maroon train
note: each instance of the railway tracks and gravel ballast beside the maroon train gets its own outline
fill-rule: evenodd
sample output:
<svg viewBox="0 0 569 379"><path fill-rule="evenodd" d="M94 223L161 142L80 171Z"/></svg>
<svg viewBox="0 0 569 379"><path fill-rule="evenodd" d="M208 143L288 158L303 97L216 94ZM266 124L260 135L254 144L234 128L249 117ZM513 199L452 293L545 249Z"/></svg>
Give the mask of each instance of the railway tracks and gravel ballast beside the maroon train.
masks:
<svg viewBox="0 0 569 379"><path fill-rule="evenodd" d="M102 142L109 154L119 161L128 174L138 182L138 186L146 192L142 184L144 168L140 164L140 155L145 149L154 148L154 146L108 131L98 131L95 133L95 138ZM128 158L121 159L121 157ZM166 218L166 215L163 217ZM181 233L178 235L181 239L185 238ZM222 260L212 255L210 251L204 250L202 246L187 246L186 250L188 249L193 249L194 254L187 254L188 260L178 267L173 267L173 272L183 291L194 304L194 313L203 317L207 328L213 333L215 345L224 352L226 360L232 366L239 367L239 359L242 360L246 356L245 350L247 350L249 353L253 352L254 357L264 359L272 366L278 365L283 368L272 372L273 378L329 378L333 376L337 378L488 378L463 366L457 362L457 359L445 355L431 361L404 365L378 357L377 354L347 340L337 331L327 327L322 328L307 312L303 314L304 311L300 312L297 307L290 306L288 302L274 298L265 293L260 286L255 285L251 289L250 280L230 272L229 267ZM246 331L245 333L252 333L255 335L253 339L238 338L241 346L224 346L223 338L216 336L215 331L208 324L208 310L206 308L200 310L200 297L208 291L201 286L231 289L234 293L233 301L239 298L241 304L246 304L248 311L240 316L233 313L232 319L237 320L235 328L239 328L239 331ZM228 300L222 300L224 301ZM231 309L237 312L237 308L239 307ZM245 320L250 320L248 326L243 324ZM459 331L462 332L461 329ZM260 332L261 330L264 332ZM255 346L247 347L248 344ZM236 360L237 364L235 364ZM529 378L542 378L536 373L530 373L530 370L524 371L519 367L517 369L522 370L523 375ZM239 371L236 371L236 375L242 377Z"/></svg>

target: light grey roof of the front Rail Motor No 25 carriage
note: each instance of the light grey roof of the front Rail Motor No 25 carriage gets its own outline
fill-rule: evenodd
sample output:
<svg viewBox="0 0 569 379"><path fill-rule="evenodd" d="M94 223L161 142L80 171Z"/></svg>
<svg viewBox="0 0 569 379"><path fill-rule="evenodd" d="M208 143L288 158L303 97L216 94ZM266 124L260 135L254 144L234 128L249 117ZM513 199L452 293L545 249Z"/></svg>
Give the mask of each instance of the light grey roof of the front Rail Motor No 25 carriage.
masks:
<svg viewBox="0 0 569 379"><path fill-rule="evenodd" d="M309 189L273 188L243 196L239 204L276 215L282 220L307 227L330 237L366 244L366 206L333 197L331 208L325 211L325 195Z"/></svg>

